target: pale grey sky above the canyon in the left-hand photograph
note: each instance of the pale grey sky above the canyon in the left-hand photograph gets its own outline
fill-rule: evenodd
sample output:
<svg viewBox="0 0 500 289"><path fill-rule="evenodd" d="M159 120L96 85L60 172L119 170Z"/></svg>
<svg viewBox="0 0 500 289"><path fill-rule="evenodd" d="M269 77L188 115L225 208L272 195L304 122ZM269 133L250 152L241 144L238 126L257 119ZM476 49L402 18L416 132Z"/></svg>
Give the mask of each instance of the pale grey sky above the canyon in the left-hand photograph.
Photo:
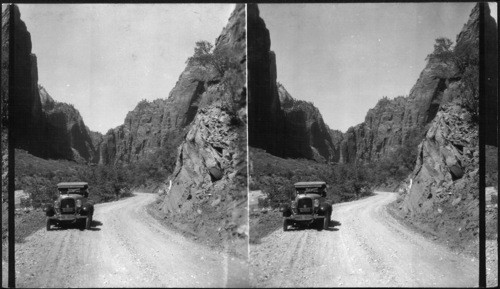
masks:
<svg viewBox="0 0 500 289"><path fill-rule="evenodd" d="M93 131L123 124L142 99L167 98L195 42L211 43L234 4L18 4L38 83Z"/></svg>

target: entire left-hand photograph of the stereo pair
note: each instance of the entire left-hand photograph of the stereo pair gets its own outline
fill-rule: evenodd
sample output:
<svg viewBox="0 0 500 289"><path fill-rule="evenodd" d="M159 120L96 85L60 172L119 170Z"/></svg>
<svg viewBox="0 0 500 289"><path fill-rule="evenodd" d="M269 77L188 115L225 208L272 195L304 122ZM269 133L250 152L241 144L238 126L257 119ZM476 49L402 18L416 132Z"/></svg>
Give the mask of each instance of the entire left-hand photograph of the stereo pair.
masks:
<svg viewBox="0 0 500 289"><path fill-rule="evenodd" d="M249 286L245 9L2 5L16 287Z"/></svg>

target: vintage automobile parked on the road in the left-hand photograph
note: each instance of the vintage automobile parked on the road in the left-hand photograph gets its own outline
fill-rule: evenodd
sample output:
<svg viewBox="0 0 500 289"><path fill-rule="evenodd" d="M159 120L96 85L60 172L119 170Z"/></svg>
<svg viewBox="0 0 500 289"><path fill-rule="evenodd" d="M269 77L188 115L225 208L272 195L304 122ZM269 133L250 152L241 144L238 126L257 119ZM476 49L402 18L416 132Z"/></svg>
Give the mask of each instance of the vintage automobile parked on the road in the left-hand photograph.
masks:
<svg viewBox="0 0 500 289"><path fill-rule="evenodd" d="M94 214L94 203L88 200L89 186L85 182L67 182L57 184L59 197L54 204L45 207L47 231L51 225L81 223L89 230Z"/></svg>

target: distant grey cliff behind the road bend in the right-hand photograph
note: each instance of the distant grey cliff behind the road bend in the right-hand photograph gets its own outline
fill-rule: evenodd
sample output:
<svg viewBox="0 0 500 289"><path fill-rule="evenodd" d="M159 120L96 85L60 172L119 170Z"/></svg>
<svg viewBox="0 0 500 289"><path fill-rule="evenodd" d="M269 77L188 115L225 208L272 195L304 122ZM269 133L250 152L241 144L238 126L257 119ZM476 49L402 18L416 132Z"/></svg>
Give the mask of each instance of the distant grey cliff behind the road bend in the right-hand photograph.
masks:
<svg viewBox="0 0 500 289"><path fill-rule="evenodd" d="M341 145L344 161L377 161L398 147L416 146L440 105L449 101L443 92L455 81L453 64L429 60L408 97L381 99L363 123L348 129Z"/></svg>

